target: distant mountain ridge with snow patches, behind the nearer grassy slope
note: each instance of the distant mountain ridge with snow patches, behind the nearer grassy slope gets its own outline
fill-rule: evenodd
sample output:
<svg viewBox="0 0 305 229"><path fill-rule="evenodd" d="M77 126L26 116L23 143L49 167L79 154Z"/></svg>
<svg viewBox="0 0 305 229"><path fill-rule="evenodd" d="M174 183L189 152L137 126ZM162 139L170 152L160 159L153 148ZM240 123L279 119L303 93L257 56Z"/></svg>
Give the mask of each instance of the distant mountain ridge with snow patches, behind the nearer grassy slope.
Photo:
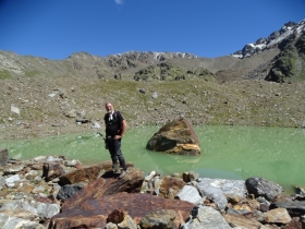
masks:
<svg viewBox="0 0 305 229"><path fill-rule="evenodd" d="M305 20L285 23L267 38L247 44L240 51L218 58L202 58L188 52L129 51L105 58L88 52L74 52L63 60L20 56L0 50L0 79L33 76L81 76L115 80L176 81L197 77L192 72L206 72L218 82L267 80L291 82L305 76L303 43ZM297 41L301 40L301 41ZM296 48L296 44L300 44ZM290 51L288 48L290 47ZM293 58L293 61L291 60ZM281 61L285 62L284 64ZM169 77L154 76L167 63ZM181 71L174 71L181 69ZM155 73L147 71L155 69ZM141 73L145 72L145 76ZM188 74L186 74L188 73ZM150 74L150 75L147 75ZM178 75L175 75L178 74ZM181 75L183 74L183 75ZM292 79L292 80L291 80Z"/></svg>

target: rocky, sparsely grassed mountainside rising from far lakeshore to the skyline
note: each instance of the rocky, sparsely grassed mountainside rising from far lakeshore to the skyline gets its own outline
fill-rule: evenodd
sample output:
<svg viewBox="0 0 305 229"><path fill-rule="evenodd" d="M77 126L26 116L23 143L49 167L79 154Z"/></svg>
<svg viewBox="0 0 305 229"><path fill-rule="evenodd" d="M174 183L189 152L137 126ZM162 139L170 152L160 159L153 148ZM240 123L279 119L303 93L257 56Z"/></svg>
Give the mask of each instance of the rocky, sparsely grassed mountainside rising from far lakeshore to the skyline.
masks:
<svg viewBox="0 0 305 229"><path fill-rule="evenodd" d="M244 58L131 51L48 60L0 51L0 138L87 131L101 124L106 101L132 126L181 112L193 124L304 126L304 21L285 29Z"/></svg>

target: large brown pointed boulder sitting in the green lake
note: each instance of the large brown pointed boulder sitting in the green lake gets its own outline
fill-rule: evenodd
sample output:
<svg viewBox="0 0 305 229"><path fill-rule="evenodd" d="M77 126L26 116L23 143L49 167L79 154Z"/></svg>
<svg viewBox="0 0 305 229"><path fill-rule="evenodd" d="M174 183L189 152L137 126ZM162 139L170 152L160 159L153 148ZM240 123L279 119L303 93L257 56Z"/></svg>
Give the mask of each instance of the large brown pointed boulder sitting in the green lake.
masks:
<svg viewBox="0 0 305 229"><path fill-rule="evenodd" d="M200 155L198 137L184 118L164 124L148 141L146 148L167 154Z"/></svg>

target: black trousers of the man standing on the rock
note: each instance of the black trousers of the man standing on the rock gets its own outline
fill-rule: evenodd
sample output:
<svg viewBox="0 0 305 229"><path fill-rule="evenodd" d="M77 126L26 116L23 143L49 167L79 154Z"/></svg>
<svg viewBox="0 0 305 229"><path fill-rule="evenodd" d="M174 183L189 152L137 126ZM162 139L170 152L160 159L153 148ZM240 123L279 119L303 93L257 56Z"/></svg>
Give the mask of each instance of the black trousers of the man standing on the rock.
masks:
<svg viewBox="0 0 305 229"><path fill-rule="evenodd" d="M112 168L118 168L118 159L123 170L126 170L126 164L121 150L121 140L107 140L108 149L112 160Z"/></svg>

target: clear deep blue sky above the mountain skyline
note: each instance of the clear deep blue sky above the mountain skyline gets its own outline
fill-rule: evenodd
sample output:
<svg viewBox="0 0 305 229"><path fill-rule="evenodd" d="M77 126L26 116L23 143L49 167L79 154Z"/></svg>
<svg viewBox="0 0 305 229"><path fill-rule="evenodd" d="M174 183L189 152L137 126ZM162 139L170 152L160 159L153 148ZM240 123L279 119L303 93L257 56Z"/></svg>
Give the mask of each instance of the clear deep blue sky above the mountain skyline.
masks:
<svg viewBox="0 0 305 229"><path fill-rule="evenodd" d="M305 0L0 0L0 50L190 52L216 58L305 19Z"/></svg>

